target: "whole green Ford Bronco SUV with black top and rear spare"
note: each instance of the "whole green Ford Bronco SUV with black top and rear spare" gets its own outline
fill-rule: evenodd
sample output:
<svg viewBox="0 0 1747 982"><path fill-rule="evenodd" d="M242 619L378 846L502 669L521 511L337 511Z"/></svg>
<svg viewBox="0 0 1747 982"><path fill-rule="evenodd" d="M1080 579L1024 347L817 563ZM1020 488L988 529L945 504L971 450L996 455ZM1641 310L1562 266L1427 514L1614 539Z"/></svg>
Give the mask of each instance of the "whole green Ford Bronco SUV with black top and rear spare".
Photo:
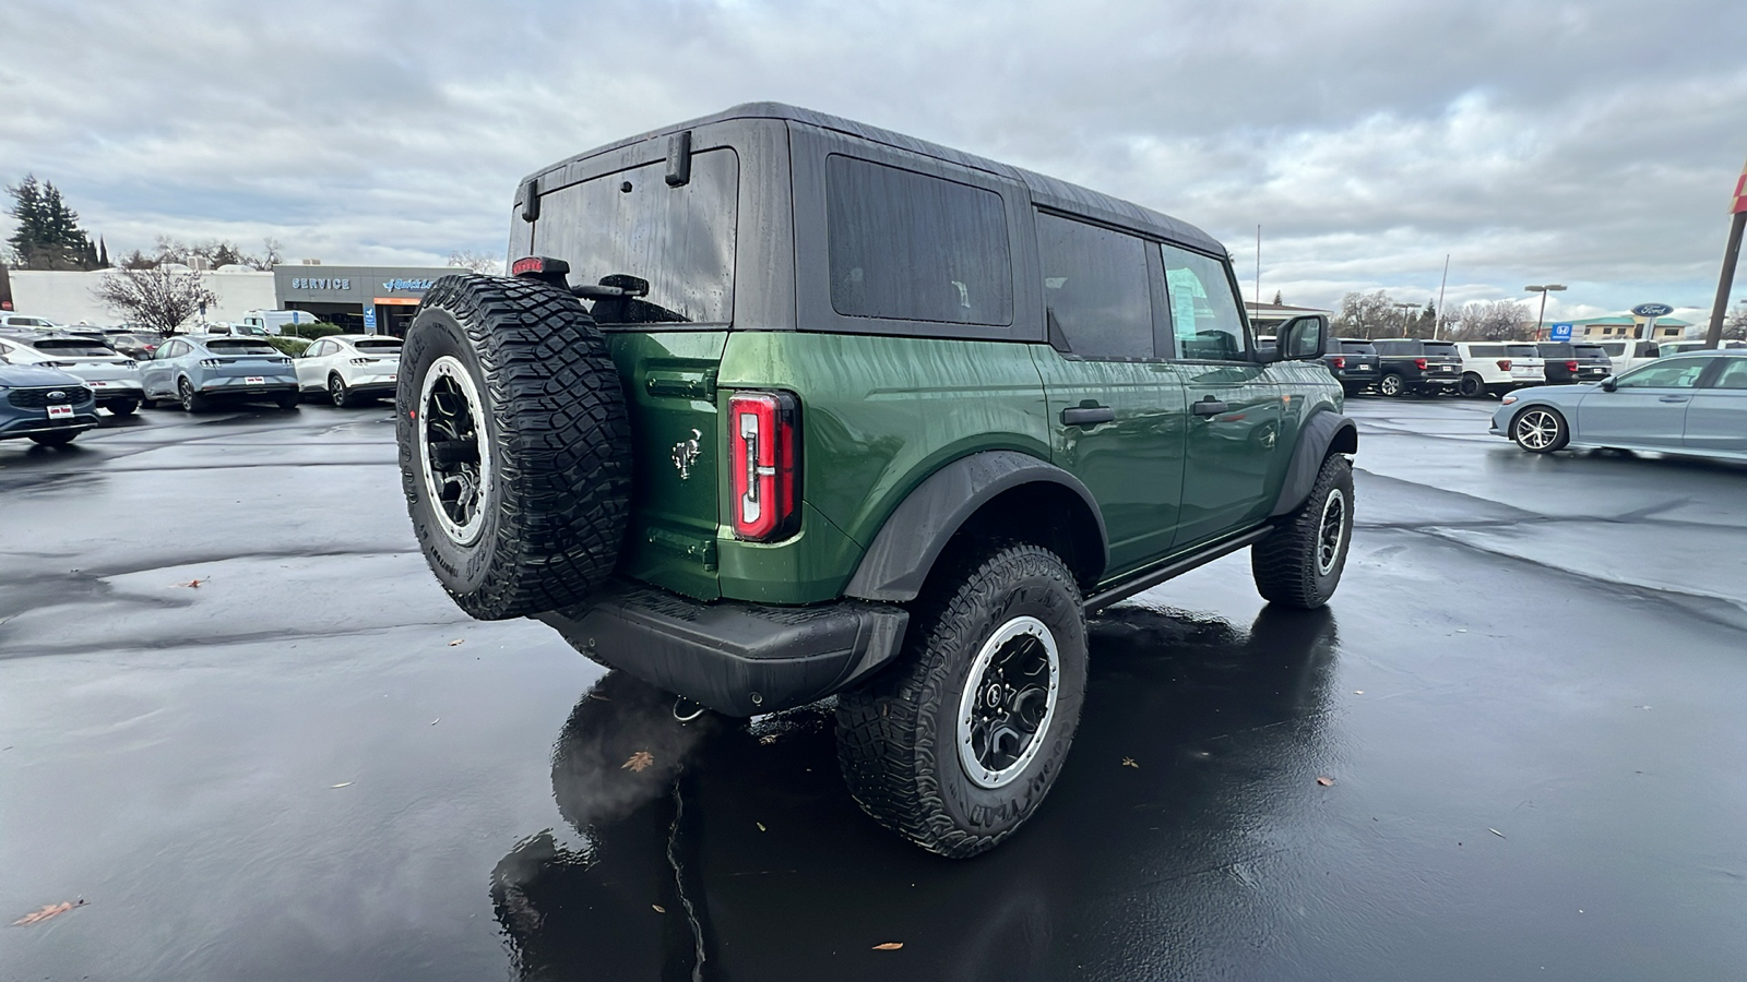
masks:
<svg viewBox="0 0 1747 982"><path fill-rule="evenodd" d="M755 103L536 171L510 255L402 353L444 589L725 715L835 695L851 793L926 849L1048 793L1087 612L1244 547L1268 601L1340 580L1328 323L1258 344L1176 218Z"/></svg>

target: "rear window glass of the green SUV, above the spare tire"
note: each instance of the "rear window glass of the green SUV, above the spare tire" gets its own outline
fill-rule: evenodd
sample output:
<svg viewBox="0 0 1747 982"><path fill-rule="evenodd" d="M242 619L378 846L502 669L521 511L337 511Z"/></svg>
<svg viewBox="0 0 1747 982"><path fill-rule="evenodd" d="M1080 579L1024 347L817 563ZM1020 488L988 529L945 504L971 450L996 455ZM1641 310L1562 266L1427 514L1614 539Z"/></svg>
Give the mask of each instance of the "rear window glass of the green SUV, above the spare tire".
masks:
<svg viewBox="0 0 1747 982"><path fill-rule="evenodd" d="M657 161L540 196L535 255L570 262L571 285L646 283L639 297L594 301L589 313L604 325L734 316L739 159L727 149L694 154L692 180L680 187L667 187L666 173Z"/></svg>

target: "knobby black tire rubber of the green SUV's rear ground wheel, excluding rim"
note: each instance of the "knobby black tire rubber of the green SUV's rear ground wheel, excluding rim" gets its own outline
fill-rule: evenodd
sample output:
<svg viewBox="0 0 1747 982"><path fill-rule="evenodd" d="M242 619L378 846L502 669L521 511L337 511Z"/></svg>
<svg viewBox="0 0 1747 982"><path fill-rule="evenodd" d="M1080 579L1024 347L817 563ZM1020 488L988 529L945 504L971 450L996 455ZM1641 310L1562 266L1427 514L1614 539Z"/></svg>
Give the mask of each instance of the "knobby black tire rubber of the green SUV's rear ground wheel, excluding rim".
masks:
<svg viewBox="0 0 1747 982"><path fill-rule="evenodd" d="M837 760L856 802L880 825L950 858L1012 835L1062 771L1085 699L1080 587L1053 552L1029 543L963 552L929 577L903 655L837 701ZM959 755L959 708L982 647L1034 617L1057 645L1055 708L1036 755L999 788L978 786Z"/></svg>

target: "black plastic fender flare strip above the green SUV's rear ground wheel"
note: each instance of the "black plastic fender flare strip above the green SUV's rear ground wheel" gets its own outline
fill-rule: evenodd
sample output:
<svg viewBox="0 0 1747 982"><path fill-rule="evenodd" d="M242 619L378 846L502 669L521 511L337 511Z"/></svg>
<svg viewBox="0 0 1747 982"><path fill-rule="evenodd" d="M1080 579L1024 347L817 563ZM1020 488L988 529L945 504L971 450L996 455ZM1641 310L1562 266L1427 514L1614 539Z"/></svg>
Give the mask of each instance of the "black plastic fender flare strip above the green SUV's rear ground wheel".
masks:
<svg viewBox="0 0 1747 982"><path fill-rule="evenodd" d="M1109 535L1092 491L1045 460L1017 451L982 451L942 467L910 491L886 517L844 594L887 603L915 599L935 559L966 519L1003 491L1036 482L1066 488L1092 514L1099 538L1099 568L1092 578L1097 578L1109 564Z"/></svg>

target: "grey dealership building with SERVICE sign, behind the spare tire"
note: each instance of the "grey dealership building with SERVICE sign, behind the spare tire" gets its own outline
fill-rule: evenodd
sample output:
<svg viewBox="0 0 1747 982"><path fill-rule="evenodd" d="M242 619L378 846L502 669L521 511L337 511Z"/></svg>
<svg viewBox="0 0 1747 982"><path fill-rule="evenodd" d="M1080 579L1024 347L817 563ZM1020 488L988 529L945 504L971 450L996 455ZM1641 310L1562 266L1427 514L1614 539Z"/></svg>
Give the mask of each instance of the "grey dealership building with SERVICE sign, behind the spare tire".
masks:
<svg viewBox="0 0 1747 982"><path fill-rule="evenodd" d="M309 311L356 334L405 337L425 290L454 267L407 266L274 266L273 294L280 309Z"/></svg>

